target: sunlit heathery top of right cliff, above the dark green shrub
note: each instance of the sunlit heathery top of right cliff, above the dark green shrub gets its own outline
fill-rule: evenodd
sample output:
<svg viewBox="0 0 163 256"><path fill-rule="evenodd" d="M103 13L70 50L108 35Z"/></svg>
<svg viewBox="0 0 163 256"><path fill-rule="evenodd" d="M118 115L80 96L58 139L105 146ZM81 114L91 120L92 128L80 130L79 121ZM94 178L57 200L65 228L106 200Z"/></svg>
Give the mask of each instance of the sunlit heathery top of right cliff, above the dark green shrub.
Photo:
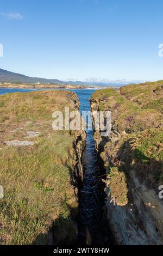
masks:
<svg viewBox="0 0 163 256"><path fill-rule="evenodd" d="M163 81L158 81L97 90L91 100L97 101L99 111L111 111L119 131L133 133L162 124L162 93Z"/></svg>

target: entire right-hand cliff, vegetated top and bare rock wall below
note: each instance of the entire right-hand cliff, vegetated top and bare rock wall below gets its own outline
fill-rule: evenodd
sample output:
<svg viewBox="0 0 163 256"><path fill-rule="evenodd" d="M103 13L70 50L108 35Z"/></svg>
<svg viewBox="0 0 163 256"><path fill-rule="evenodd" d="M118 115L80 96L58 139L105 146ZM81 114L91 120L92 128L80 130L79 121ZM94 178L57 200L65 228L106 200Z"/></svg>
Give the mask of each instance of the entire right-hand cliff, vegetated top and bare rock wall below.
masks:
<svg viewBox="0 0 163 256"><path fill-rule="evenodd" d="M108 222L120 245L163 244L162 86L146 83L99 90L91 110L111 111L110 136L95 131L106 169Z"/></svg>

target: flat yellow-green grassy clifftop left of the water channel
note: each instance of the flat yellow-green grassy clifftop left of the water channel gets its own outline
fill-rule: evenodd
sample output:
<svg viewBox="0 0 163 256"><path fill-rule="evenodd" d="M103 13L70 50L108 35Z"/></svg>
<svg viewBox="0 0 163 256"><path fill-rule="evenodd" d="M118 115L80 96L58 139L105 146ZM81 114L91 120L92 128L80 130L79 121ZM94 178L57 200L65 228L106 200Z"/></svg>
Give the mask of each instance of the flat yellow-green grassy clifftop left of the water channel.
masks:
<svg viewBox="0 0 163 256"><path fill-rule="evenodd" d="M62 229L58 239L74 239L70 215L72 210L75 214L77 201L70 183L76 135L52 130L53 111L64 106L74 109L64 94L44 91L0 97L1 244L46 244L52 222ZM9 132L17 128L21 130ZM26 138L27 131L39 131L40 135ZM14 139L36 143L21 148L3 143Z"/></svg>

